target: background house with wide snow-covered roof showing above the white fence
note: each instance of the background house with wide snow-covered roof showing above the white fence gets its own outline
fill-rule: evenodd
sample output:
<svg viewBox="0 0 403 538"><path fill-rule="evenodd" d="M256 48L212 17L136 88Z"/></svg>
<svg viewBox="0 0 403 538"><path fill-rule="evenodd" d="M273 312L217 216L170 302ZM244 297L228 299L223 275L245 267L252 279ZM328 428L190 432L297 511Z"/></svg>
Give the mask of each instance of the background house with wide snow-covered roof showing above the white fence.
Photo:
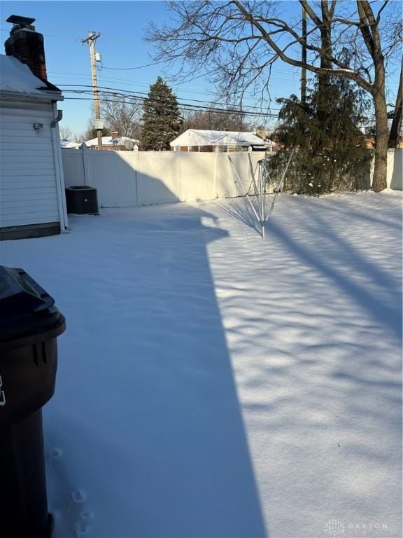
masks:
<svg viewBox="0 0 403 538"><path fill-rule="evenodd" d="M266 151L253 132L188 129L172 140L172 151Z"/></svg>

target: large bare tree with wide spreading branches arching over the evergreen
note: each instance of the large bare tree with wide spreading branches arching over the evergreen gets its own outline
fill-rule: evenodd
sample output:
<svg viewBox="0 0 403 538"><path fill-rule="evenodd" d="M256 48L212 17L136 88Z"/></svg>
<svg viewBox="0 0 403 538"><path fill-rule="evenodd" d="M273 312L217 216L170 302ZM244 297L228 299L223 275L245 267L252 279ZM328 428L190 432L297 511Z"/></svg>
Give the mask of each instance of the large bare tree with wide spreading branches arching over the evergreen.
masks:
<svg viewBox="0 0 403 538"><path fill-rule="evenodd" d="M381 191L386 188L388 149L386 61L401 41L399 10L394 18L388 0L299 0L299 4L308 19L304 36L299 30L301 13L285 20L283 13L278 14L282 4L274 1L175 1L169 4L174 25L160 29L151 25L146 39L156 44L157 60L183 60L178 76L207 72L227 97L239 96L240 101L248 89L267 99L271 67L277 60L306 68L322 84L330 76L351 79L372 96L373 188ZM302 57L302 48L309 55L306 64L295 59ZM342 51L353 60L341 60Z"/></svg>

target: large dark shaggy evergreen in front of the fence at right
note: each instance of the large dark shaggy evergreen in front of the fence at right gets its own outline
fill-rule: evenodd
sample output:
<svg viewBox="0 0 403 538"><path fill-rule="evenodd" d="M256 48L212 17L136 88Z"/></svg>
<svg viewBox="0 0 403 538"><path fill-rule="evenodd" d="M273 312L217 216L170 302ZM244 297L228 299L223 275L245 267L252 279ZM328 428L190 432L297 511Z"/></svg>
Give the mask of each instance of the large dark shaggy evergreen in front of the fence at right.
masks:
<svg viewBox="0 0 403 538"><path fill-rule="evenodd" d="M296 150L285 189L320 195L365 186L370 153L360 127L369 104L360 88L330 77L326 85L316 81L305 104L295 95L278 103L283 106L275 136L283 149L271 160L274 175L288 150Z"/></svg>

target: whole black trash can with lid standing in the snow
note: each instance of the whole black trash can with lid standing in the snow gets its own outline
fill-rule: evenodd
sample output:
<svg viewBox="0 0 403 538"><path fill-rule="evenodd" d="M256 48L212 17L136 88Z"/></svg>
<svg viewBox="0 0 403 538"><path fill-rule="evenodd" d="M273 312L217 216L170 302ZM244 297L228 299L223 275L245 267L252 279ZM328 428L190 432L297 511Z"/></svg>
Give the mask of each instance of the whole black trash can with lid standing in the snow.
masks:
<svg viewBox="0 0 403 538"><path fill-rule="evenodd" d="M41 408L55 392L55 301L22 269L0 265L0 532L48 538Z"/></svg>

